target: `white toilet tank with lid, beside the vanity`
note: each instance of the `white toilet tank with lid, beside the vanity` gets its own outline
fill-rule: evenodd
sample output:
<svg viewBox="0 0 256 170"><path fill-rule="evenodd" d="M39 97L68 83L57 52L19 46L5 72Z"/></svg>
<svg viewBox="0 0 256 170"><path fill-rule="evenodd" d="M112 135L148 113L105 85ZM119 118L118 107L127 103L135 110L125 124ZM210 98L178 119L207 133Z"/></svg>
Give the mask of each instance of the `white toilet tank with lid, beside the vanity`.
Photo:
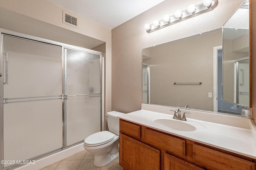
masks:
<svg viewBox="0 0 256 170"><path fill-rule="evenodd" d="M110 111L107 112L106 115L108 116L108 130L116 135L119 135L119 115L125 113L121 113L118 111Z"/></svg>

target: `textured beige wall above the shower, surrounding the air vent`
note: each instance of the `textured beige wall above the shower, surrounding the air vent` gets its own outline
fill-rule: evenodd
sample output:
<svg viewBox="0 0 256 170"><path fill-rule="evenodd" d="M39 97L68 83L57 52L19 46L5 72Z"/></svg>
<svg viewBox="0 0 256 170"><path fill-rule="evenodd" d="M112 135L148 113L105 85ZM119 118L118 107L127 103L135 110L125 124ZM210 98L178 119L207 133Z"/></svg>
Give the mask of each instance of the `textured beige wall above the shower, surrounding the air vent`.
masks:
<svg viewBox="0 0 256 170"><path fill-rule="evenodd" d="M9 14L12 12L19 14L18 18L10 18L10 16L5 14L5 10L8 10ZM102 41L102 43L106 42L105 69L107 76L105 86L105 111L111 111L111 30L82 16L73 14L72 12L69 12L69 14L78 18L78 28L62 23L62 10L65 9L47 0L0 0L0 15L4 16L0 17L0 28L68 44L72 43L72 45L78 45L80 47L83 47L83 43L85 43L83 41L85 41L86 36L98 39ZM15 14L14 16L17 17ZM19 21L19 17L23 19L24 16L28 16L28 20L24 20L24 22L21 23L15 22ZM7 23L8 25L6 25ZM72 37L72 35L74 35L74 37ZM58 38L54 39L55 37Z"/></svg>

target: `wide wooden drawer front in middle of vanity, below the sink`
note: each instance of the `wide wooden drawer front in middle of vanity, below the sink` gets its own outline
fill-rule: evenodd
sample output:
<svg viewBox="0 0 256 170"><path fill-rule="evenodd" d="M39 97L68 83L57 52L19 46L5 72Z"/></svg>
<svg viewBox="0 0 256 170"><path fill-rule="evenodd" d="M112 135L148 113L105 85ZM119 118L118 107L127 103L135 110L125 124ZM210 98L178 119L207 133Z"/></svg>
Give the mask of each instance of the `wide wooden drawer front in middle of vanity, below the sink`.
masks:
<svg viewBox="0 0 256 170"><path fill-rule="evenodd" d="M150 145L167 150L173 154L186 155L186 141L165 135L150 129L143 129L144 141L150 143Z"/></svg>

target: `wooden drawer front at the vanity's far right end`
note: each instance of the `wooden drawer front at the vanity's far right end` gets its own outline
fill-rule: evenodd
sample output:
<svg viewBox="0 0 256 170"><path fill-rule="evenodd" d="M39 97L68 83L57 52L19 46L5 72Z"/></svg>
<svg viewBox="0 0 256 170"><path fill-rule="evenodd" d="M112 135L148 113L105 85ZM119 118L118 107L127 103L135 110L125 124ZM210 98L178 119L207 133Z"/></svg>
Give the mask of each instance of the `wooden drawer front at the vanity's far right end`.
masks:
<svg viewBox="0 0 256 170"><path fill-rule="evenodd" d="M255 163L193 144L193 159L208 170L255 170Z"/></svg>

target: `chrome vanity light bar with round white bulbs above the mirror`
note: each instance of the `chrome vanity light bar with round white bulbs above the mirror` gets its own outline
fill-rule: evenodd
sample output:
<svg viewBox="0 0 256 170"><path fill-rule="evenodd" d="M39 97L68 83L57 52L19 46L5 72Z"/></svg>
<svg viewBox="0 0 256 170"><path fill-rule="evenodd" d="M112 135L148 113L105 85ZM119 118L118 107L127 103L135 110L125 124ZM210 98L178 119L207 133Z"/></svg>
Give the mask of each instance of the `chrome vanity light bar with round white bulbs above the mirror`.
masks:
<svg viewBox="0 0 256 170"><path fill-rule="evenodd" d="M158 29L162 29L174 23L178 23L180 21L192 18L194 16L198 16L200 14L204 14L216 8L218 5L218 0L203 0L202 4L195 6L191 4L188 8L184 11L176 10L173 16L165 15L163 20L158 21L154 20L153 24L146 23L144 28L148 33L156 31Z"/></svg>

